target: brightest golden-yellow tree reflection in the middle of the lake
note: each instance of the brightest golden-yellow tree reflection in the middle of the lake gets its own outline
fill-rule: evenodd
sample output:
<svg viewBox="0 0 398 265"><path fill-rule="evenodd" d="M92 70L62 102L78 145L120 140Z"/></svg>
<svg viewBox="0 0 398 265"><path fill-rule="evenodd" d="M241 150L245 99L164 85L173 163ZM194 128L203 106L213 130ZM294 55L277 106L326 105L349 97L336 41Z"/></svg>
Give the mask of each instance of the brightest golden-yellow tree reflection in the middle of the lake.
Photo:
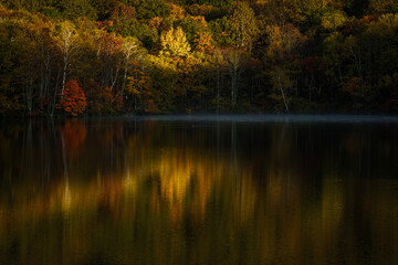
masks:
<svg viewBox="0 0 398 265"><path fill-rule="evenodd" d="M174 221L182 218L185 206L189 203L191 214L202 219L211 183L216 180L212 171L218 172L221 165L199 158L193 150L180 149L163 150L149 165L144 169L148 170L147 174L159 176L160 197L156 195L153 203L158 205L160 201L166 202ZM196 195L190 197L191 193Z"/></svg>

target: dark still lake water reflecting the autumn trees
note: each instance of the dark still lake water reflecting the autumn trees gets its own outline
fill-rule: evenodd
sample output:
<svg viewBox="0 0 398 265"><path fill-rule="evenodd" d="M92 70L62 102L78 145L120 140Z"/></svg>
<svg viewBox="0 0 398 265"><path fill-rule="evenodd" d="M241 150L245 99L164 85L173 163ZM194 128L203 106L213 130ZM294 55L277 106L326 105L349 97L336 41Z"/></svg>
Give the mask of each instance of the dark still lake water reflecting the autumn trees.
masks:
<svg viewBox="0 0 398 265"><path fill-rule="evenodd" d="M0 120L0 264L398 264L397 120L252 121Z"/></svg>

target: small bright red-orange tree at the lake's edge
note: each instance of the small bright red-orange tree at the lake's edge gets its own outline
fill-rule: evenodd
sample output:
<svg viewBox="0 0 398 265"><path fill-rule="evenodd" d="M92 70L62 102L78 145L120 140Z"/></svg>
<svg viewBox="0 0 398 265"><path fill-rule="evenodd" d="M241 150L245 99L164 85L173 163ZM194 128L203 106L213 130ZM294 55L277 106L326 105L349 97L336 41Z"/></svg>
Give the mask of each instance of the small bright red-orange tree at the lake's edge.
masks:
<svg viewBox="0 0 398 265"><path fill-rule="evenodd" d="M84 113L87 107L86 96L75 80L71 80L65 83L64 93L60 96L61 100L57 107L71 114L72 116L77 116L78 114Z"/></svg>

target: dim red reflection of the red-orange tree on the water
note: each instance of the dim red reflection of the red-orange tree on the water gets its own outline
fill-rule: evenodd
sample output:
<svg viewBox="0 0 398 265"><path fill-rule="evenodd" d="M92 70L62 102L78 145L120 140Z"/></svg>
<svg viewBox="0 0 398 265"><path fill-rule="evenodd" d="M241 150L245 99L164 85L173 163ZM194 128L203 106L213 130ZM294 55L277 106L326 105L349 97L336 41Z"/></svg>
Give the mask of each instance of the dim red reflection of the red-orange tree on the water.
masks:
<svg viewBox="0 0 398 265"><path fill-rule="evenodd" d="M62 134L66 150L71 157L76 157L78 148L83 145L87 135L85 123L82 120L66 120Z"/></svg>

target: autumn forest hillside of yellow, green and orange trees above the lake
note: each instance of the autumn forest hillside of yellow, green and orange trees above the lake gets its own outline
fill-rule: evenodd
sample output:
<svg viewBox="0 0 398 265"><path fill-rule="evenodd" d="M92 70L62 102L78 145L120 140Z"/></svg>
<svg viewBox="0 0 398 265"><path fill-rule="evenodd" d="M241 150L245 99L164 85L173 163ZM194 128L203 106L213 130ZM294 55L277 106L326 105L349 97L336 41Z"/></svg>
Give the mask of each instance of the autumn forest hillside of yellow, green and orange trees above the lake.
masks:
<svg viewBox="0 0 398 265"><path fill-rule="evenodd" d="M0 116L398 113L395 0L2 0Z"/></svg>

